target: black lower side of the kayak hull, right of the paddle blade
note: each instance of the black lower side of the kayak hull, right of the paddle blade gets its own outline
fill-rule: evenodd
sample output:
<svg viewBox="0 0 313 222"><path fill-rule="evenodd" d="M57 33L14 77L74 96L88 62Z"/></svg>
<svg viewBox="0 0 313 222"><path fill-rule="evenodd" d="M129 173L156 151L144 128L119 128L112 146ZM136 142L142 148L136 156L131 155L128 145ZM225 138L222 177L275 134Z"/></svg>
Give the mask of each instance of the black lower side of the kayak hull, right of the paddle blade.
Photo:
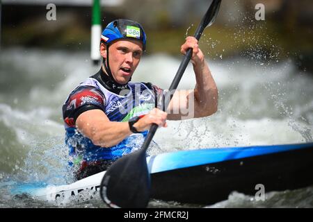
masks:
<svg viewBox="0 0 313 222"><path fill-rule="evenodd" d="M279 148L279 152L152 173L152 198L213 204L227 199L232 191L254 196L258 184L266 192L313 185L313 144L287 151Z"/></svg>

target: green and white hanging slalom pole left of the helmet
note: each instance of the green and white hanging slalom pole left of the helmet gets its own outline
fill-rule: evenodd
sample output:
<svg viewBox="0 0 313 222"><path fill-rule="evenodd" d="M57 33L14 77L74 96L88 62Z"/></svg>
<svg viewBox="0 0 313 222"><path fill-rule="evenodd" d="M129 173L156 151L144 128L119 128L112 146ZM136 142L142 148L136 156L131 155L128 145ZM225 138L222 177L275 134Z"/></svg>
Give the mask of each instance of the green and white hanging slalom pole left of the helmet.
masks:
<svg viewBox="0 0 313 222"><path fill-rule="evenodd" d="M93 0L93 17L91 26L91 60L97 65L100 60L99 42L101 37L100 0Z"/></svg>

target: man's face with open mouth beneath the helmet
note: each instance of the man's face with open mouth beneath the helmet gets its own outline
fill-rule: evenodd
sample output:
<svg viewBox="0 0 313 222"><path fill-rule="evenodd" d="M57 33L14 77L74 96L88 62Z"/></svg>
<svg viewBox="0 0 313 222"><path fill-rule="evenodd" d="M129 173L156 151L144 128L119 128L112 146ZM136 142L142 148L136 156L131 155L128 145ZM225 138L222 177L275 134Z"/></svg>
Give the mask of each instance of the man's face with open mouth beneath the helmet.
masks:
<svg viewBox="0 0 313 222"><path fill-rule="evenodd" d="M106 46L104 44L101 44L100 51L102 56L106 58ZM129 81L141 60L142 54L143 44L137 40L118 40L109 46L109 67L116 82L125 84Z"/></svg>

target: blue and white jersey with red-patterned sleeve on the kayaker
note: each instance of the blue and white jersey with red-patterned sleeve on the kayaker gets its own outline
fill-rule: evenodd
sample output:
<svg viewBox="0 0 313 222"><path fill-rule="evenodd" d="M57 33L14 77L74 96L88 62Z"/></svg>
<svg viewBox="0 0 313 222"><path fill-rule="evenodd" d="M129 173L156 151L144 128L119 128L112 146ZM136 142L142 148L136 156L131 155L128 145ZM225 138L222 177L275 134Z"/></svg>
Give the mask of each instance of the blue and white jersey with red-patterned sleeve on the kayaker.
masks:
<svg viewBox="0 0 313 222"><path fill-rule="evenodd" d="M100 71L98 74L103 74ZM96 76L95 75L95 76ZM70 148L70 165L82 165L97 160L116 160L141 147L147 131L133 134L110 148L96 146L88 137L84 137L75 126L79 114L86 110L102 110L110 121L129 121L131 117L140 117L155 107L160 108L163 89L150 83L127 84L120 94L104 87L94 76L80 83L68 96L63 105L65 122L65 143Z"/></svg>

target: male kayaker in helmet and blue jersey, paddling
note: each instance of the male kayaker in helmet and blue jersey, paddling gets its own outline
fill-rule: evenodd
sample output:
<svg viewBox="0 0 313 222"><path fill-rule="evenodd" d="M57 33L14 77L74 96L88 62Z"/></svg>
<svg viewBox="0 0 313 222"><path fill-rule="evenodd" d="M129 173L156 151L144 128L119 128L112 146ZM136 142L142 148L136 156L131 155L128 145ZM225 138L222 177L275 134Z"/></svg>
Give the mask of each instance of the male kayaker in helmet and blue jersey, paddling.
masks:
<svg viewBox="0 0 313 222"><path fill-rule="evenodd" d="M181 52L193 49L195 89L175 92L168 110L164 110L166 90L152 83L130 82L145 46L141 24L127 19L111 22L100 41L101 69L65 101L65 142L77 180L106 170L114 160L140 148L152 123L166 127L166 119L206 117L216 112L216 84L194 37L186 38Z"/></svg>

